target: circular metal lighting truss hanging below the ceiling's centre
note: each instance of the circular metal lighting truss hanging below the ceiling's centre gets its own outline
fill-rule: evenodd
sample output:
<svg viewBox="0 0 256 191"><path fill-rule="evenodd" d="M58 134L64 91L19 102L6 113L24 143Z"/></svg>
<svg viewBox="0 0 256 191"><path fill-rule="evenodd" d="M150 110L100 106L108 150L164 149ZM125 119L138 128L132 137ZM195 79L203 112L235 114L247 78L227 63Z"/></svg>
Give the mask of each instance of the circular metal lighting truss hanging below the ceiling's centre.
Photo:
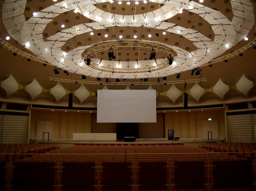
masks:
<svg viewBox="0 0 256 191"><path fill-rule="evenodd" d="M144 43L144 42L115 42L109 44L103 44L94 48L89 49L85 53L85 58L91 58L97 53L104 52L104 51L113 51L113 50L120 50L120 49L139 49L139 50L149 50L164 54L167 58L171 58L172 62L174 61L173 52L166 47L160 46L158 44L152 43ZM170 66L169 60L167 59L165 62L160 64L156 64L154 66L144 67L144 68L111 68L106 66L101 66L100 64L94 63L93 61L90 62L89 67L106 71L106 72L116 72L116 73L141 73L141 72L148 72L148 71L156 71L162 68Z"/></svg>

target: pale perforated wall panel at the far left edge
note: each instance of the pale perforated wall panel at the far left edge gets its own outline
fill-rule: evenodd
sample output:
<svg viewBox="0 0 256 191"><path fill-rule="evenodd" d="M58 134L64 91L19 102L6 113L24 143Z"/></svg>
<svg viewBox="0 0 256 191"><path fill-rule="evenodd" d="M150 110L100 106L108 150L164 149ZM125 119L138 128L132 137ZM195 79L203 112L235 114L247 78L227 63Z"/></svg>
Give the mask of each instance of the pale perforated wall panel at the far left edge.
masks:
<svg viewBox="0 0 256 191"><path fill-rule="evenodd" d="M28 116L0 115L0 143L25 143Z"/></svg>

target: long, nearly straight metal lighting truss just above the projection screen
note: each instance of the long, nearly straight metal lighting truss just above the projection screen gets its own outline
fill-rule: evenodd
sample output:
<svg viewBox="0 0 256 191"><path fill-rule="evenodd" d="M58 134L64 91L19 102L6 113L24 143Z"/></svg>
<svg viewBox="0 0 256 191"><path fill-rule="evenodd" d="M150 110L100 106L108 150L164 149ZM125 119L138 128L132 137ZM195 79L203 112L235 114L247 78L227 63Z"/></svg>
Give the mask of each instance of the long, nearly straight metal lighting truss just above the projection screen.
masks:
<svg viewBox="0 0 256 191"><path fill-rule="evenodd" d="M56 82L71 82L71 83L83 83L83 84L97 84L99 85L100 82L95 81L83 81L83 80L69 80L69 79L61 79L61 78L49 78L50 81L56 81ZM176 84L176 83L190 83L190 82L206 82L207 78L202 79L195 79L195 80L179 80L179 81L166 81L166 84ZM165 82L162 81L160 83L156 82L101 82L102 85L131 85L131 83L136 85L157 85L157 84L164 84Z"/></svg>

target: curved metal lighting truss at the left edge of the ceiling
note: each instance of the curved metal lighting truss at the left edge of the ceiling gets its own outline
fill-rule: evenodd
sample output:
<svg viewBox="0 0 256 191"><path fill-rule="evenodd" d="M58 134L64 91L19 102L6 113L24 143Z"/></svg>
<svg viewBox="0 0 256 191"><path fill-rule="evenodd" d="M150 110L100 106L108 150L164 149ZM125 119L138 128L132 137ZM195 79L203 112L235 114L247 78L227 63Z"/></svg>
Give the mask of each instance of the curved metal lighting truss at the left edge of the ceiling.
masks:
<svg viewBox="0 0 256 191"><path fill-rule="evenodd" d="M45 61L42 58L39 58L37 56L33 56L32 54L26 53L22 50L19 50L17 48L15 48L14 46L11 46L11 44L7 43L6 41L4 41L3 39L0 38L0 45L16 54L19 54L20 56L23 56L25 58L29 58L30 60L34 60L43 64L47 64L50 66L54 66L53 64L51 64L50 62Z"/></svg>

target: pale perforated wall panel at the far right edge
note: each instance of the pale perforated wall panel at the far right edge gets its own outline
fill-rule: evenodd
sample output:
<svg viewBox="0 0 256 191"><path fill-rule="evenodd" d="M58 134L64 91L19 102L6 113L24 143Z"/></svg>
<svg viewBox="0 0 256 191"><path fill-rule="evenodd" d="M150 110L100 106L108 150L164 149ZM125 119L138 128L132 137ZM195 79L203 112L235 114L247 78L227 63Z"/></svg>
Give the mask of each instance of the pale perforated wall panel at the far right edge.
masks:
<svg viewBox="0 0 256 191"><path fill-rule="evenodd" d="M229 142L255 142L256 114L228 115Z"/></svg>

